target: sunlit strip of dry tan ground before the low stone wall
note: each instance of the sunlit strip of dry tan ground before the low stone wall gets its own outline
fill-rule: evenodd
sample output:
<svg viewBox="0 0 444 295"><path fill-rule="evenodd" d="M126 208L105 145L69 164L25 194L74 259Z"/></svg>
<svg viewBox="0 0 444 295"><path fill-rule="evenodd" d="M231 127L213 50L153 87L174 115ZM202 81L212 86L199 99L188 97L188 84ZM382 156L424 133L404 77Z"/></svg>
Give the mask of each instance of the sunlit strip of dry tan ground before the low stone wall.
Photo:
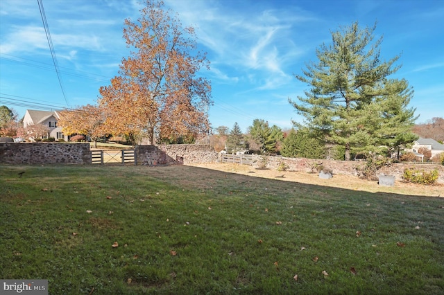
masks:
<svg viewBox="0 0 444 295"><path fill-rule="evenodd" d="M411 184L406 181L395 181L395 186L379 186L377 181L368 181L359 179L352 175L334 175L332 179L321 179L315 173L278 171L278 170L258 170L248 165L239 165L237 163L203 163L195 167L219 170L223 172L248 175L250 177L262 177L268 179L277 179L282 181L294 181L302 184L314 184L316 186L330 186L334 188L344 188L348 190L362 190L370 193L395 193L400 195L419 195L427 197L444 197L444 185L436 184L433 186L424 186ZM207 184L208 179L197 179L193 181L198 184L203 181Z"/></svg>

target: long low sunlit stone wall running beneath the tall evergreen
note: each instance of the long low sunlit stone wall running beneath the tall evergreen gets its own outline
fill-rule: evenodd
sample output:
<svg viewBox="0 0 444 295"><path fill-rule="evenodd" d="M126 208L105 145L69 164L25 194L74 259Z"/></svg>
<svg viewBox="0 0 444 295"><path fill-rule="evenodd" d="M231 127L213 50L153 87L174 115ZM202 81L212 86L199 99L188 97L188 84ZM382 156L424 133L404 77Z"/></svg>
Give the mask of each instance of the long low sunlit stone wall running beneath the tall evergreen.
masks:
<svg viewBox="0 0 444 295"><path fill-rule="evenodd" d="M262 156L253 155L253 167L259 168ZM305 158L285 158L285 157L268 157L266 161L266 168L277 170L280 163L286 163L289 171L311 172L311 168L316 164L322 165L333 171L333 174L341 175L355 175L357 176L356 168L365 166L365 161L336 161L336 160L319 160L319 159L305 159ZM430 172L438 170L439 177L437 182L444 184L444 166L441 164L416 164L416 163L393 163L390 166L385 166L379 170L379 174L393 175L396 179L401 180L405 168L414 168Z"/></svg>

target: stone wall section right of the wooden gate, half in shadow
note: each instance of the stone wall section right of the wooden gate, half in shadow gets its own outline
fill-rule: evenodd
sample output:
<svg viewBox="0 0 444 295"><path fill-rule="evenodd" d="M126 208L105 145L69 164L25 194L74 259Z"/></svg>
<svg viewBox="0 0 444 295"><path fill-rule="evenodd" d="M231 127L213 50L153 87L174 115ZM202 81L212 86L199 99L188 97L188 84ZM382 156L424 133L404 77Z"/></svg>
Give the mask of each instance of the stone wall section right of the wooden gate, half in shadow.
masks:
<svg viewBox="0 0 444 295"><path fill-rule="evenodd" d="M211 145L137 145L139 165L214 163L218 154Z"/></svg>

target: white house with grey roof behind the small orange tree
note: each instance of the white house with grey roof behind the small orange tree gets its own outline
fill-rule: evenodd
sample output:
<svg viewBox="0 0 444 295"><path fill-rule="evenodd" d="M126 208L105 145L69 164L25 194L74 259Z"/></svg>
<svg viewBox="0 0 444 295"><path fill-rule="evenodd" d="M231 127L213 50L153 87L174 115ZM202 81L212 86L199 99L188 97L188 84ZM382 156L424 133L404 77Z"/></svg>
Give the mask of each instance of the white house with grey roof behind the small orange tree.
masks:
<svg viewBox="0 0 444 295"><path fill-rule="evenodd" d="M36 111L33 109L27 109L23 118L23 127L26 128L28 125L42 124L49 129L47 136L44 137L53 137L67 141L68 136L64 136L62 133L62 127L57 125L59 118L57 111Z"/></svg>

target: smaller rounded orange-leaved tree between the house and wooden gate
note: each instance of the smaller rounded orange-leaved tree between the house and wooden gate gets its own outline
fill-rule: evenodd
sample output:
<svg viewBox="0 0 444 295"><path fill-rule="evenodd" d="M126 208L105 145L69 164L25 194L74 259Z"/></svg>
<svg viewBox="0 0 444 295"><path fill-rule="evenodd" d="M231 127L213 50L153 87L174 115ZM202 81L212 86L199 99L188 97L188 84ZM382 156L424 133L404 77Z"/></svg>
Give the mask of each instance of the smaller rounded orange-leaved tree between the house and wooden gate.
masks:
<svg viewBox="0 0 444 295"><path fill-rule="evenodd" d="M59 111L58 125L65 134L84 134L89 136L97 147L99 138L105 136L103 111L95 105L85 105L78 109Z"/></svg>

